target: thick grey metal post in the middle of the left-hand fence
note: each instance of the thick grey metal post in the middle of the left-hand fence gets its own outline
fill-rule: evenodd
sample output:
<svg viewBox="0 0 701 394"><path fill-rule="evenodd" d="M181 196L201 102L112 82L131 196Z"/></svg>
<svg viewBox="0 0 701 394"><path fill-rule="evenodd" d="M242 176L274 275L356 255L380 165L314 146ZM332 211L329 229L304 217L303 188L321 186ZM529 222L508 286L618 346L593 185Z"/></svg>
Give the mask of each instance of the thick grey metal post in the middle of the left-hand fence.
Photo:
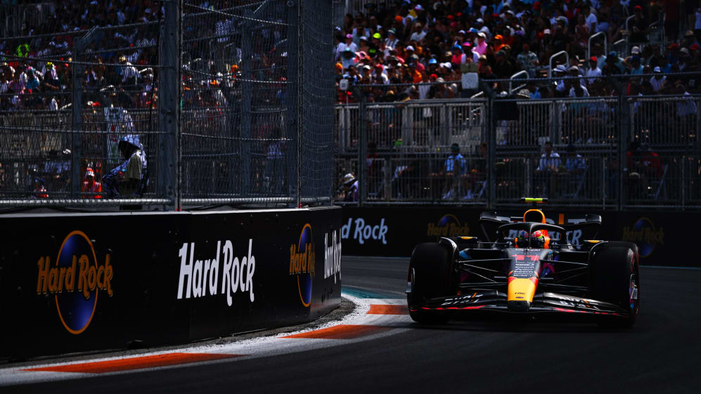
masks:
<svg viewBox="0 0 701 394"><path fill-rule="evenodd" d="M161 26L158 54L160 78L158 81L158 124L162 133L158 138L159 163L157 197L173 202L172 209L179 211L180 204L180 40L181 0L165 3L165 20Z"/></svg>

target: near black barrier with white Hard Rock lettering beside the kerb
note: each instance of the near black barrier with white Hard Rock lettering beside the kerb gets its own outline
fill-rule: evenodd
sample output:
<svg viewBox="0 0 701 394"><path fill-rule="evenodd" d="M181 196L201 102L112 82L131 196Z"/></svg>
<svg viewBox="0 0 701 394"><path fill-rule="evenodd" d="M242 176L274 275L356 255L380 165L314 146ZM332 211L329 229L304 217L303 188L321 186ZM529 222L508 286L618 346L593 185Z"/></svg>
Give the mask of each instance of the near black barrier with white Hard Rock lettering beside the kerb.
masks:
<svg viewBox="0 0 701 394"><path fill-rule="evenodd" d="M336 207L0 217L0 357L186 343L340 304Z"/></svg>

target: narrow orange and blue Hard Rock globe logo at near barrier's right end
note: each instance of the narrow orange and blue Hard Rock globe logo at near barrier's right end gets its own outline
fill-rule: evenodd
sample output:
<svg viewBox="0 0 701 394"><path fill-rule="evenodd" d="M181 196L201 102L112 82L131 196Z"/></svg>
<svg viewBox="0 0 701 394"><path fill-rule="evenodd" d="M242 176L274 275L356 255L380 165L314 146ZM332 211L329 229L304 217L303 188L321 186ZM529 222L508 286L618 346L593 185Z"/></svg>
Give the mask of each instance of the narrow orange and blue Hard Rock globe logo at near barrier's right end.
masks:
<svg viewBox="0 0 701 394"><path fill-rule="evenodd" d="M297 277L297 290L302 305L311 305L311 282L314 278L316 253L314 235L309 223L302 227L299 241L290 245L290 276Z"/></svg>

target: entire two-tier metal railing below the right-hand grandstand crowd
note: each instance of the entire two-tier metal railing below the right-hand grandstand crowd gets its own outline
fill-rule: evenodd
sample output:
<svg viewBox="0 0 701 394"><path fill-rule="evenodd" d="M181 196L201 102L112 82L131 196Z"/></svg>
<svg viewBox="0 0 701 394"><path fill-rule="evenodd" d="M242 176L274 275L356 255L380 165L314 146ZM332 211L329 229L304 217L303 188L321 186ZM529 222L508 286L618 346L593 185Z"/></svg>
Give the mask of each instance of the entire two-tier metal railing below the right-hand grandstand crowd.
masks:
<svg viewBox="0 0 701 394"><path fill-rule="evenodd" d="M553 204L605 209L701 205L701 96L409 100L367 105L367 122L361 121L360 106L335 108L337 122L354 117L356 128L348 122L335 125L335 175L360 178L366 190L361 189L361 204L494 206L536 195L551 197ZM425 109L439 114L441 122L422 119ZM397 119L406 124L373 123L373 110L397 110ZM397 145L394 137L403 143ZM492 165L487 164L490 139ZM539 169L546 142L560 161ZM451 143L458 144L466 163L457 177L446 169ZM664 180L648 177L639 190L629 186L640 172L631 174L628 164L619 164L653 151L665 157L659 165Z"/></svg>

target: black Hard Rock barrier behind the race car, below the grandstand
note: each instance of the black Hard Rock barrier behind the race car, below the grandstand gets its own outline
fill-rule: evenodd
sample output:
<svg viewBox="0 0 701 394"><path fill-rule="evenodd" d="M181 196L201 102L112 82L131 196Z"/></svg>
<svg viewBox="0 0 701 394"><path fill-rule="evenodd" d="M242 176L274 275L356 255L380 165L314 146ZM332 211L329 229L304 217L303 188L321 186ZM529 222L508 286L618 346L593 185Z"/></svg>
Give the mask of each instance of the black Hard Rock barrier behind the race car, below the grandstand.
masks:
<svg viewBox="0 0 701 394"><path fill-rule="evenodd" d="M522 210L498 211L499 216L522 217ZM565 239L604 239L638 244L643 265L701 266L695 256L699 214L664 211L570 211L539 206L548 223L565 228ZM485 209L440 206L343 207L343 253L355 256L410 256L420 242L439 237L469 235L484 240L477 222ZM586 214L600 214L602 225L582 225ZM496 229L496 227L494 227ZM491 231L491 230L490 230ZM551 232L551 237L562 235ZM513 235L515 236L515 235Z"/></svg>

